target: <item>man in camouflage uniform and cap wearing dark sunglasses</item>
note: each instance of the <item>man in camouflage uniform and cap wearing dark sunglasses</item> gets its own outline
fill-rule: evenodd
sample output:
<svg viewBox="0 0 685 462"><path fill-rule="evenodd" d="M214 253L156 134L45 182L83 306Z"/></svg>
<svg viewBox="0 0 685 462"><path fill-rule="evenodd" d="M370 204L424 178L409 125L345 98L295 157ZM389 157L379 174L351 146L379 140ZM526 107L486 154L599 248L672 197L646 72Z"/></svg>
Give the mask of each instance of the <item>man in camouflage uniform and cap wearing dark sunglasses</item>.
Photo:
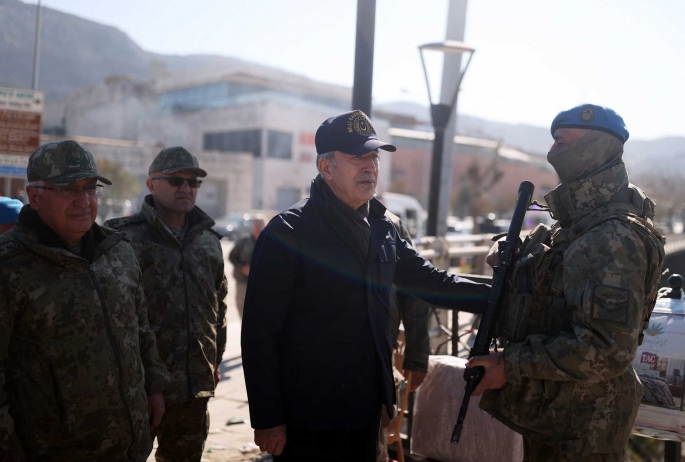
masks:
<svg viewBox="0 0 685 462"><path fill-rule="evenodd" d="M152 162L140 212L105 223L132 241L143 270L150 325L172 382L156 431L158 461L199 461L209 429L207 402L226 346L227 281L214 221L195 206L207 176L182 147Z"/></svg>

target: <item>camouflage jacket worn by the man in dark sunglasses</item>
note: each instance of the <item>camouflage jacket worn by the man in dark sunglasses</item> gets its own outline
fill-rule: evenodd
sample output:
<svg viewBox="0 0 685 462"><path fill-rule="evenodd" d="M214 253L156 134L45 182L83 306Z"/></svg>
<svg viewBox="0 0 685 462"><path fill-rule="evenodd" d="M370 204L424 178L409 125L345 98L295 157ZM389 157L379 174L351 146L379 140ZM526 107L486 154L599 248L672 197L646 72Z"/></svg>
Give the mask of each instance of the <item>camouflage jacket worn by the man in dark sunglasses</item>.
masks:
<svg viewBox="0 0 685 462"><path fill-rule="evenodd" d="M105 223L126 234L143 271L150 327L171 373L165 399L214 396L214 370L226 348L227 281L214 221L195 207L178 242L155 212L152 196L141 211Z"/></svg>

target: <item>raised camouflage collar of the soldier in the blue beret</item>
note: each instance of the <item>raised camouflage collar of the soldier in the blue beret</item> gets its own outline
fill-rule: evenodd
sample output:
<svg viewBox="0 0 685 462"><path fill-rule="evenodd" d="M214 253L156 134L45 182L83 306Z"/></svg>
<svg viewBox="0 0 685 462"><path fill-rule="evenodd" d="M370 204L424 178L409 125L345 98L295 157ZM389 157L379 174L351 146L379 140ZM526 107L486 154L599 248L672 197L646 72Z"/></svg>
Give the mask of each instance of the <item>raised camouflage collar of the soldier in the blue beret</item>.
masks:
<svg viewBox="0 0 685 462"><path fill-rule="evenodd" d="M611 201L628 184L628 171L621 162L587 178L562 183L545 200L552 216L565 225Z"/></svg>

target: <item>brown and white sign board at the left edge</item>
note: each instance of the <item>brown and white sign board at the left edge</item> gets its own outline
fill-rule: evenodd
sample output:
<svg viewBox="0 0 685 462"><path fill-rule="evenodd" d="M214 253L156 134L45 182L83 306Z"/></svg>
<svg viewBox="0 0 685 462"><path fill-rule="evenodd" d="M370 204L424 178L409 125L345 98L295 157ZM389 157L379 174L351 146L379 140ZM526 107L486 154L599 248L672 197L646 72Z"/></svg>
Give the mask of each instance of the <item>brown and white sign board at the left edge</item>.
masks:
<svg viewBox="0 0 685 462"><path fill-rule="evenodd" d="M40 146L43 92L0 87L0 176L25 177Z"/></svg>

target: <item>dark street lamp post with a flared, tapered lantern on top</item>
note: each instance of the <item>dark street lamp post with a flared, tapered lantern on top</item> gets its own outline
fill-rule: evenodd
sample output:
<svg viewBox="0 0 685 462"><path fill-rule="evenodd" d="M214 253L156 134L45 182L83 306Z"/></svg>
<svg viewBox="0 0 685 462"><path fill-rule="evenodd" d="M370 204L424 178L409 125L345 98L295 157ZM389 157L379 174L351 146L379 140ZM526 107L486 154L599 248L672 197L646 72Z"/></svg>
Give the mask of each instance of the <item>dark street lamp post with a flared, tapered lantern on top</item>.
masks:
<svg viewBox="0 0 685 462"><path fill-rule="evenodd" d="M438 101L433 103L433 97L431 94L431 85L428 79L428 69L426 67L426 60L424 59L424 53L426 51L437 51L443 54L467 54L469 55L468 61L464 69L460 71L459 78L457 79L456 85L454 87L454 93L451 98L448 99L447 103L442 103ZM421 64L423 66L423 73L426 77L426 87L428 87L428 100L431 107L431 119L433 121L433 130L435 133L435 138L433 140L433 159L431 161L431 182L430 182L430 196L428 200L428 229L427 234L429 236L437 236L438 234L438 219L440 214L438 213L439 203L440 203L440 170L442 167L442 157L445 147L445 129L450 121L450 117L454 113L455 107L457 106L457 96L459 95L459 86L461 81L466 74L466 70L471 63L471 58L476 50L466 46L464 43L456 40L445 40L444 42L437 43L427 43L419 47L419 52L421 54ZM444 83L444 81L443 81ZM444 92L443 92L444 93Z"/></svg>

